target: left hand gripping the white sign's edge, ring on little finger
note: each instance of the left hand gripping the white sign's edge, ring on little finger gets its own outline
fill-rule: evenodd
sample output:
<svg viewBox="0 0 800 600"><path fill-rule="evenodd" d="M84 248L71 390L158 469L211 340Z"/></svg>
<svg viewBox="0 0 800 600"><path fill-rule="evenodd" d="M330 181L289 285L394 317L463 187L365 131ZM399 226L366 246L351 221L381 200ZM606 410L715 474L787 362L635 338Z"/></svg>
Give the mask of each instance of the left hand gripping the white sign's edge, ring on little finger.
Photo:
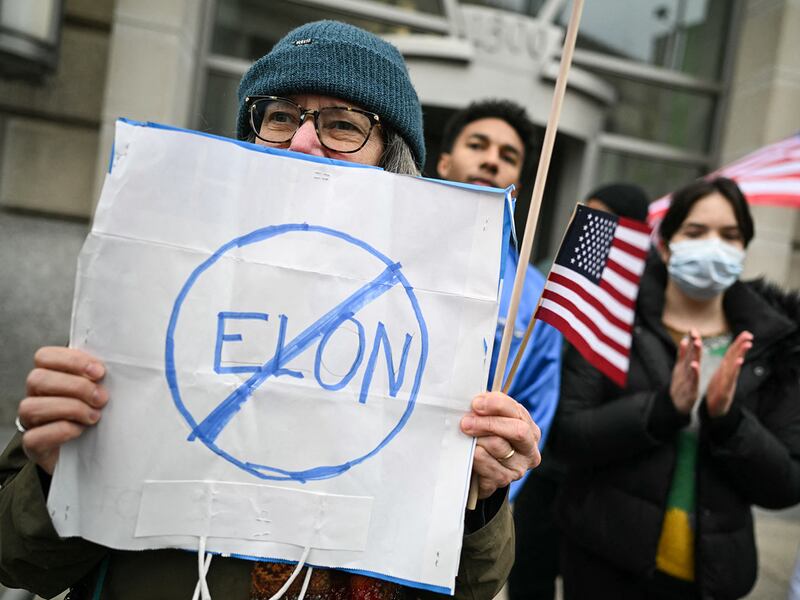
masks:
<svg viewBox="0 0 800 600"><path fill-rule="evenodd" d="M25 454L52 475L61 446L100 420L105 367L86 352L57 347L40 348L34 365L17 423Z"/></svg>

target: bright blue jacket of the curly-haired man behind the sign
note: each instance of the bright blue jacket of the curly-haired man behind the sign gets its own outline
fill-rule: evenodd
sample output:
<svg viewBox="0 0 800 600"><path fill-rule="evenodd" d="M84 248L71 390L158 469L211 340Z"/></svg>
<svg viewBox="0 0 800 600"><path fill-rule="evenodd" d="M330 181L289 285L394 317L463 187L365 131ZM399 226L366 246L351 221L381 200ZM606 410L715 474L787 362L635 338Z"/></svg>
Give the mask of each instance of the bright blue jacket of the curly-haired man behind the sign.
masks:
<svg viewBox="0 0 800 600"><path fill-rule="evenodd" d="M489 370L489 385L491 385L491 378L494 375L495 365L497 364L497 353L500 349L500 340L503 337L508 306L511 303L511 291L514 287L514 276L517 272L518 263L519 254L512 248L506 255L503 293L500 297L497 331L492 350L492 364ZM525 287L520 299L519 310L517 311L514 337L511 340L511 349L508 354L506 375L511 369L511 364L517 355L517 349L522 342L522 337L525 335L525 330L528 328L528 322L539 302L542 288L544 288L544 277L535 267L528 265L528 271L525 274ZM556 407L558 406L558 391L561 385L561 347L562 338L558 330L547 323L537 323L509 390L509 395L528 409L531 417L542 430L539 449L542 449L547 441L547 434L550 432L553 416L556 414ZM511 485L510 497L512 500L523 481L525 481L525 478Z"/></svg>

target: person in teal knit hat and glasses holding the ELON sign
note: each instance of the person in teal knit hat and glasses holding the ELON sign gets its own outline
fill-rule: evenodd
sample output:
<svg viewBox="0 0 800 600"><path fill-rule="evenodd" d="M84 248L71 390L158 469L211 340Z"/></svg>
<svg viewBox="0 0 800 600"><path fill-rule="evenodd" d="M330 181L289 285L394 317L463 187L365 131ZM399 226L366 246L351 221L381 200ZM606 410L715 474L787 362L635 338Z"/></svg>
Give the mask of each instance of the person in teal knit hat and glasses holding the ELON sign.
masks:
<svg viewBox="0 0 800 600"><path fill-rule="evenodd" d="M400 53L375 35L320 21L288 33L247 71L239 87L237 136L292 152L418 174L425 147L419 100ZM102 357L41 348L19 405L20 433L0 458L0 581L44 596L188 599L197 555L182 550L116 551L60 539L46 497L59 448L95 426L109 398ZM538 427L512 398L487 393L461 421L478 438L473 476L479 505L465 515L456 597L492 598L513 562L507 486L539 462ZM399 516L401 518L401 516ZM219 557L212 594L226 600L270 598L292 565ZM284 596L297 598L299 582ZM336 570L314 570L306 598L386 600L436 594Z"/></svg>

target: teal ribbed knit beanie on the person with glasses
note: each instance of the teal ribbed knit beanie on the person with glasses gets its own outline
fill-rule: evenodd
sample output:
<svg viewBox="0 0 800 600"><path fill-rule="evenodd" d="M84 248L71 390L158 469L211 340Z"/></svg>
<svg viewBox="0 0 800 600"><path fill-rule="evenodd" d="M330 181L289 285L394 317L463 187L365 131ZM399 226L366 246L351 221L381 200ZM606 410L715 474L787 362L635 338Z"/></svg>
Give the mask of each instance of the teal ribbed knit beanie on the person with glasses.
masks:
<svg viewBox="0 0 800 600"><path fill-rule="evenodd" d="M403 57L389 42L339 21L316 21L287 33L239 84L236 134L246 139L248 96L322 94L378 114L425 164L422 109Z"/></svg>

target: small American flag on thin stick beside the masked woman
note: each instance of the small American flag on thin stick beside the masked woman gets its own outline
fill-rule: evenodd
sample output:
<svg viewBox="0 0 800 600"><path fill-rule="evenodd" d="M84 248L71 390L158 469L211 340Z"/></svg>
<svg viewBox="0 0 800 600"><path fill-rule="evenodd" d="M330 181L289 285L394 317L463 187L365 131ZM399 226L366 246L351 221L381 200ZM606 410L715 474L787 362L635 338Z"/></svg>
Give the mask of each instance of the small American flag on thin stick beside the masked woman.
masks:
<svg viewBox="0 0 800 600"><path fill-rule="evenodd" d="M558 329L621 387L628 377L636 296L649 247L644 223L579 204L536 311L537 319Z"/></svg>

